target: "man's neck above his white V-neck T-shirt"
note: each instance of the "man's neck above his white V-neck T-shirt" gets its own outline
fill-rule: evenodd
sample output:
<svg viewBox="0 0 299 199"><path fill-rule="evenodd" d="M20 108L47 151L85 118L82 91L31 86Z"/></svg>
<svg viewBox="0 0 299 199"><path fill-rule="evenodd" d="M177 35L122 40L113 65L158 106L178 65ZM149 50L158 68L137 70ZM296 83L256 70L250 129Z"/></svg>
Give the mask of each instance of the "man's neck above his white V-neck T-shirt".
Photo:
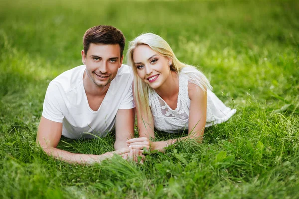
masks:
<svg viewBox="0 0 299 199"><path fill-rule="evenodd" d="M110 83L106 86L97 86L86 74L84 71L83 75L83 86L86 94L93 96L102 96L105 95L108 91Z"/></svg>

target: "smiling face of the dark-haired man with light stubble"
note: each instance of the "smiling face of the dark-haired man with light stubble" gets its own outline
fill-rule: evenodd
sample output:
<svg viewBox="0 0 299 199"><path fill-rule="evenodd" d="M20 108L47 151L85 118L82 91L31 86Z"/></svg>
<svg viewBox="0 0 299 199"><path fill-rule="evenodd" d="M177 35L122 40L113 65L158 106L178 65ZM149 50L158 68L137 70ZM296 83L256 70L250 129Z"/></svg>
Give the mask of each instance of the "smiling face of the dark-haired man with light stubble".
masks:
<svg viewBox="0 0 299 199"><path fill-rule="evenodd" d="M91 43L87 54L82 50L81 55L86 65L86 74L98 87L108 85L115 78L124 57L120 57L118 44Z"/></svg>

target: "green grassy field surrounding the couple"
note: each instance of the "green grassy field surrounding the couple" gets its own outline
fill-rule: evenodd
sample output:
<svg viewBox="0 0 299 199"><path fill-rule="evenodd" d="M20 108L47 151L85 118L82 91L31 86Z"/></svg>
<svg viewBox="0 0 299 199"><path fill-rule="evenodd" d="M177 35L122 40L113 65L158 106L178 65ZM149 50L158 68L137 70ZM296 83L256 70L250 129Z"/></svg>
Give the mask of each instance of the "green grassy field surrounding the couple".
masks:
<svg viewBox="0 0 299 199"><path fill-rule="evenodd" d="M299 198L298 1L0 0L0 198ZM81 65L86 29L165 38L237 113L138 165L71 165L35 144L49 81ZM162 134L159 139L167 139ZM113 135L63 139L101 154Z"/></svg>

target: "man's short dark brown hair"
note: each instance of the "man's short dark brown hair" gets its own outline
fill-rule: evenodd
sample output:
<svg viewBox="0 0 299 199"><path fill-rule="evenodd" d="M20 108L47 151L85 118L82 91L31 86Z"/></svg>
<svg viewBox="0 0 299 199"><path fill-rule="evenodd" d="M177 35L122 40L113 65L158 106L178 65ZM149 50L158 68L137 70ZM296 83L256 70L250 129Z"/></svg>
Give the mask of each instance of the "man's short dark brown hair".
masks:
<svg viewBox="0 0 299 199"><path fill-rule="evenodd" d="M85 55L90 43L118 44L121 49L121 57L125 48L125 36L123 33L110 25L98 25L86 30L83 36L83 48Z"/></svg>

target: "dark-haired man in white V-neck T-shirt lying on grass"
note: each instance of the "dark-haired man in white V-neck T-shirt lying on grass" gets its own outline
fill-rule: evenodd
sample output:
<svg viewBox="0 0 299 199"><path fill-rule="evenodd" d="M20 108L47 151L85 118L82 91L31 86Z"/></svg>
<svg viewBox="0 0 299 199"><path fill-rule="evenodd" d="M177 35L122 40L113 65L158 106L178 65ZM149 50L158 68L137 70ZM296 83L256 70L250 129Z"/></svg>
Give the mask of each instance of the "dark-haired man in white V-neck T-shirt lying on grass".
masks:
<svg viewBox="0 0 299 199"><path fill-rule="evenodd" d="M133 74L122 65L125 37L112 26L88 29L83 37L84 65L68 70L48 86L36 142L48 154L70 163L92 164L119 154L139 155L126 140L134 137ZM102 155L57 149L61 136L71 139L105 136L115 127L116 151Z"/></svg>

